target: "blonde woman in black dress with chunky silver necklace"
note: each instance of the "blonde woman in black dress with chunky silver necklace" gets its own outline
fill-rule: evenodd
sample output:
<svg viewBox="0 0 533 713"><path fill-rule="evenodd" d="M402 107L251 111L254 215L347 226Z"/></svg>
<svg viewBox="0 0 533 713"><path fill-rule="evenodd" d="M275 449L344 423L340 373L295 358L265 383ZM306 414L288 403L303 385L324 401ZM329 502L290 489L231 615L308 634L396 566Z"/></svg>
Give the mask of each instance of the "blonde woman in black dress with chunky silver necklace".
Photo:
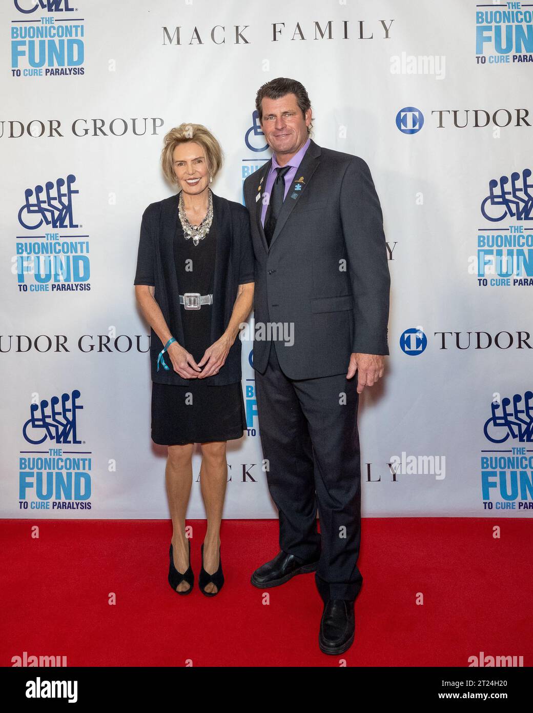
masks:
<svg viewBox="0 0 533 713"><path fill-rule="evenodd" d="M172 516L168 581L190 594L194 574L185 516L192 452L202 448L200 486L207 513L199 586L224 583L219 528L227 482L226 442L246 429L239 324L254 297L254 254L247 209L212 193L222 165L219 143L200 124L165 136L166 177L180 191L150 203L140 229L135 295L151 327L152 440L168 446Z"/></svg>

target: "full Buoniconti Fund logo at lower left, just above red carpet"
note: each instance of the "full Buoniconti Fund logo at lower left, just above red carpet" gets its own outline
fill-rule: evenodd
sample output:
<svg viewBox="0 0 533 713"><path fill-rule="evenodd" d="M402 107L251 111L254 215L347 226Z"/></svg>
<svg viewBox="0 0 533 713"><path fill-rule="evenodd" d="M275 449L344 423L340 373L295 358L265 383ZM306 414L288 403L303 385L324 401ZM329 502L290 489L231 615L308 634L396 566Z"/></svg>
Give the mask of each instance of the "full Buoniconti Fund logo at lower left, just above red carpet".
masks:
<svg viewBox="0 0 533 713"><path fill-rule="evenodd" d="M91 451L79 436L81 393L41 399L35 394L22 425L19 455L21 510L90 510Z"/></svg>

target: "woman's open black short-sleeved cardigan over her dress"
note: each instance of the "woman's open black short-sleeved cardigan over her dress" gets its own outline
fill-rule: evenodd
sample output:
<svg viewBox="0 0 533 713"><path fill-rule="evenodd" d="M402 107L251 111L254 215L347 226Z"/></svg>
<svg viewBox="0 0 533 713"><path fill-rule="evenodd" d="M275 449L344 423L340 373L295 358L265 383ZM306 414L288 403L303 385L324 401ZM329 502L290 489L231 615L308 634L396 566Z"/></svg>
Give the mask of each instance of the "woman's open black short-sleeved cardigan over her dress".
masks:
<svg viewBox="0 0 533 713"><path fill-rule="evenodd" d="M180 288L174 262L175 230L179 194L150 203L143 213L140 227L137 271L133 284L155 287L154 297L167 322L170 334L183 345L180 308ZM214 287L211 322L211 344L222 337L232 315L239 284L254 282L254 250L250 234L248 210L244 205L226 200L213 193L213 214L217 220L217 252L214 262ZM209 237L209 236L208 236ZM182 379L165 354L168 371L160 366L157 356L163 344L150 328L150 371L158 384L187 386L192 379ZM234 384L242 378L241 340L237 334L234 344L218 374L207 379L209 386Z"/></svg>

